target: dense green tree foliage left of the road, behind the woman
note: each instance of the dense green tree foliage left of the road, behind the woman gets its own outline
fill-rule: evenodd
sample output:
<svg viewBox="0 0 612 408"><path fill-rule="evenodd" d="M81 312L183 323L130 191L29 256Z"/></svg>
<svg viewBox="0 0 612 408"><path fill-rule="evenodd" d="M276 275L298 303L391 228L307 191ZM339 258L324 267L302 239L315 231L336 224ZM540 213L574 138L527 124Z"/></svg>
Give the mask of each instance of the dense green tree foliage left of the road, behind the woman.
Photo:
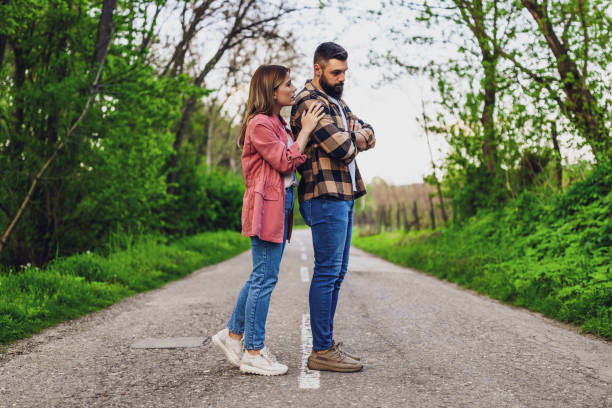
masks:
<svg viewBox="0 0 612 408"><path fill-rule="evenodd" d="M35 174L83 111L97 68L92 56L101 4L4 3L0 233L17 214ZM98 94L39 180L2 251L4 265L41 266L56 256L98 250L117 231L176 237L239 229L244 191L239 176L208 173L186 159L179 161L179 194L167 193L168 163L183 102L210 91L193 85L188 75L160 75L151 43L144 40L157 30L147 26L151 20L145 18L152 6L144 0L118 3Z"/></svg>

